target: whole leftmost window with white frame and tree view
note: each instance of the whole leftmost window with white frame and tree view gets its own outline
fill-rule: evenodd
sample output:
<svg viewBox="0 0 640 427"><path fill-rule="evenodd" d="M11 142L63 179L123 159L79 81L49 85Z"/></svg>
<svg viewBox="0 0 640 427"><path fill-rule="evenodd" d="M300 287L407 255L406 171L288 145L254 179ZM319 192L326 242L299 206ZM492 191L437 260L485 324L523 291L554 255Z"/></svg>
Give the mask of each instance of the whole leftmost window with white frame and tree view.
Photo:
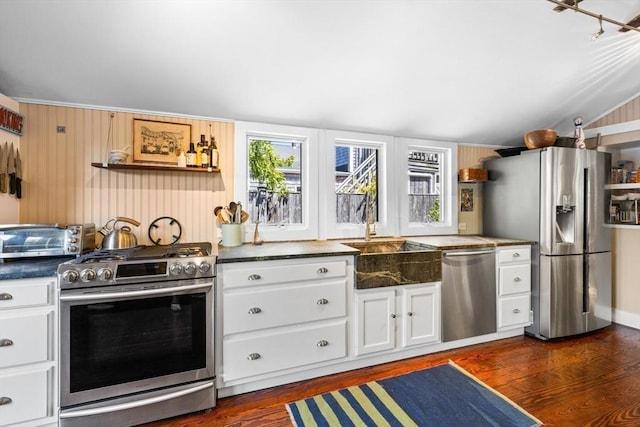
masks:
<svg viewBox="0 0 640 427"><path fill-rule="evenodd" d="M236 122L235 194L249 213L244 241L259 221L263 240L318 238L318 157L314 129Z"/></svg>

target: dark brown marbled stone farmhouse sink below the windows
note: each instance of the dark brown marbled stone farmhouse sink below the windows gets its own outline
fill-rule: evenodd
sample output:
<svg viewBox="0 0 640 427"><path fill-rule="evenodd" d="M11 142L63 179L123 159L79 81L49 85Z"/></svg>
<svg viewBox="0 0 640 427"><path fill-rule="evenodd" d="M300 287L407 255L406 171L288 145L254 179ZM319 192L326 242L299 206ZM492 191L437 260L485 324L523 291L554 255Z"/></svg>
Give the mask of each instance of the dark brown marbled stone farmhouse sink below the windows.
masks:
<svg viewBox="0 0 640 427"><path fill-rule="evenodd" d="M358 249L356 289L438 282L441 251L408 240L347 241Z"/></svg>

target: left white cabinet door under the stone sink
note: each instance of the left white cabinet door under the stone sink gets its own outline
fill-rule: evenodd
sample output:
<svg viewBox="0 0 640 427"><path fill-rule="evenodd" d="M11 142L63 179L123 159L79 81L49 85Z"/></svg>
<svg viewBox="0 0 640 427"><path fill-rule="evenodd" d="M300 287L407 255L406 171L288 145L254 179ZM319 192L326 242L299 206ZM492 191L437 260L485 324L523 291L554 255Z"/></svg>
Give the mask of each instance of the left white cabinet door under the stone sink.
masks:
<svg viewBox="0 0 640 427"><path fill-rule="evenodd" d="M395 347L395 300L393 289L356 293L356 354Z"/></svg>

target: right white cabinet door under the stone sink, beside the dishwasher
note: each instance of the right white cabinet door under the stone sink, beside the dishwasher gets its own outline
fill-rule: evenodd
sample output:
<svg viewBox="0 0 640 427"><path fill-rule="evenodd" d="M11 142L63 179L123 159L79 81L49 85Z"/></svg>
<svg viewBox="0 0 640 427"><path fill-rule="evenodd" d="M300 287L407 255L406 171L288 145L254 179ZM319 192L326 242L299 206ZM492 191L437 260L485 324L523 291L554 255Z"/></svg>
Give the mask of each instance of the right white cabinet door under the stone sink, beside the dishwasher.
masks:
<svg viewBox="0 0 640 427"><path fill-rule="evenodd" d="M401 292L402 346L440 341L440 284Z"/></svg>

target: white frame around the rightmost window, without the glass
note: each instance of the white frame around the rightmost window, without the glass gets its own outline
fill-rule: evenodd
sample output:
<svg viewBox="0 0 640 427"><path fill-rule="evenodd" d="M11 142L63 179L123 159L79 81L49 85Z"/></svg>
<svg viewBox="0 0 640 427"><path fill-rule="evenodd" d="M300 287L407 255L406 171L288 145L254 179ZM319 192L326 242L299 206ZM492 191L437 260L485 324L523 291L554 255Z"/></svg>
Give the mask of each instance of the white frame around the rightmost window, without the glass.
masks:
<svg viewBox="0 0 640 427"><path fill-rule="evenodd" d="M399 232L402 236L458 234L458 159L455 142L433 141L414 138L395 138L395 163L404 171L395 176L398 205L409 205L409 152L431 151L442 156L440 170L440 212L441 222L409 222L409 211L400 209Z"/></svg>

